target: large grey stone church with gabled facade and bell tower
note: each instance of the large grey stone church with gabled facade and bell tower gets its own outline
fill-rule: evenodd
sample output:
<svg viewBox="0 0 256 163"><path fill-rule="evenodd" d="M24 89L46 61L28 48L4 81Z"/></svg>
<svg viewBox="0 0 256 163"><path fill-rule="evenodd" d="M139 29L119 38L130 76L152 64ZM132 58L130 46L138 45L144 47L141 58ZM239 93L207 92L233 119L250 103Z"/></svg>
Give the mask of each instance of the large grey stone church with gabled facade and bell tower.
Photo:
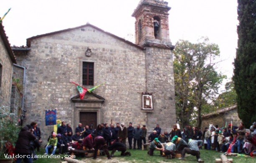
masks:
<svg viewBox="0 0 256 163"><path fill-rule="evenodd" d="M136 44L89 23L28 38L27 53L15 51L27 68L26 123L37 121L45 139L53 130L45 126L45 110L56 109L57 119L73 128L133 122L170 130L176 123L170 9L162 0L141 0L133 13ZM106 84L80 99L70 81ZM142 109L143 92L152 96L153 109Z"/></svg>

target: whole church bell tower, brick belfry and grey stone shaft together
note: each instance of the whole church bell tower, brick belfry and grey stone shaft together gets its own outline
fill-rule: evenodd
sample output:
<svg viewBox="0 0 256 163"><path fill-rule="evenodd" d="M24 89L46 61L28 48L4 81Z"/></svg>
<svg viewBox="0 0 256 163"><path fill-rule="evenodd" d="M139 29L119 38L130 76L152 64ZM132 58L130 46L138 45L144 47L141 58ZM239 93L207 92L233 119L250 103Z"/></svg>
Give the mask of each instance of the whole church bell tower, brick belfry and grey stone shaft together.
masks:
<svg viewBox="0 0 256 163"><path fill-rule="evenodd" d="M176 124L170 9L163 0L141 0L132 14L136 18L136 44L145 49L146 92L153 98L154 109L142 110L147 115L149 132L156 124L162 131L169 131Z"/></svg>

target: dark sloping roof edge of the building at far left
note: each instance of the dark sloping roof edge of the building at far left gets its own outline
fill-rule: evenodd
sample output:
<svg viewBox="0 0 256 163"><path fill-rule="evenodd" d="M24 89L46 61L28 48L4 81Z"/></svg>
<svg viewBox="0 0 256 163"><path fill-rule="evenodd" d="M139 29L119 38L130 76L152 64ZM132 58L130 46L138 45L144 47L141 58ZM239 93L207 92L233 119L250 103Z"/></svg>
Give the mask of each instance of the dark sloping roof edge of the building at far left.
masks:
<svg viewBox="0 0 256 163"><path fill-rule="evenodd" d="M3 40L4 46L6 48L7 53L10 56L10 59L13 61L13 63L16 64L16 58L14 56L14 53L13 53L10 43L8 41L8 37L5 34L4 26L2 25L2 23L0 23L0 37Z"/></svg>

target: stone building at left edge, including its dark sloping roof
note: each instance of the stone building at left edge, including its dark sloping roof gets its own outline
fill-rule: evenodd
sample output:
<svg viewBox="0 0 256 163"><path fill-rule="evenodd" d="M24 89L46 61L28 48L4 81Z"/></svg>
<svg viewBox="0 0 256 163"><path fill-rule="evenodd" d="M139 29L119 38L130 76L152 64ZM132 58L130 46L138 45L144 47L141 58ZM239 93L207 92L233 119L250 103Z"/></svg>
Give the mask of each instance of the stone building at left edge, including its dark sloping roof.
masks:
<svg viewBox="0 0 256 163"><path fill-rule="evenodd" d="M10 108L13 64L16 63L4 27L0 23L0 106ZM2 112L2 109L0 110ZM9 112L10 110L5 110Z"/></svg>

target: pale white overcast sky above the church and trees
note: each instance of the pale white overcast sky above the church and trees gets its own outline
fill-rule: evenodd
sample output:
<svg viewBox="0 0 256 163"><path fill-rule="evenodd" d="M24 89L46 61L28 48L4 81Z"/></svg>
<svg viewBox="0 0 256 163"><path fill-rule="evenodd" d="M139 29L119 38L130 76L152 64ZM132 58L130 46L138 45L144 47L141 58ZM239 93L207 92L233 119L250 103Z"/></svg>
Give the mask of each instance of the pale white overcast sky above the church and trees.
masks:
<svg viewBox="0 0 256 163"><path fill-rule="evenodd" d="M0 4L3 20L13 46L26 45L26 39L44 33L84 25L89 22L104 31L131 40L135 18L131 16L140 0L5 0ZM237 48L236 0L166 0L169 7L169 33L172 44L179 39L196 43L207 36L220 47L218 71L233 75ZM224 83L225 84L225 83Z"/></svg>

